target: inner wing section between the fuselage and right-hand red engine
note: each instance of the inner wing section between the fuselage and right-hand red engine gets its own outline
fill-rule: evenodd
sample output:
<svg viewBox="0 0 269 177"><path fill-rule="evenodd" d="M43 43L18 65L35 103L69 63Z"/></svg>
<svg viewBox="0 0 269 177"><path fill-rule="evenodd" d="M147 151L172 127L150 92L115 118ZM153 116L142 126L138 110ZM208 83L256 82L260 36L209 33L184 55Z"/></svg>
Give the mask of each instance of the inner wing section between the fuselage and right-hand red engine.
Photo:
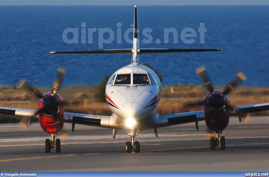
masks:
<svg viewBox="0 0 269 177"><path fill-rule="evenodd" d="M158 118L158 120L160 120L159 127L195 122L196 129L198 130L198 122L204 121L204 111L160 115Z"/></svg>

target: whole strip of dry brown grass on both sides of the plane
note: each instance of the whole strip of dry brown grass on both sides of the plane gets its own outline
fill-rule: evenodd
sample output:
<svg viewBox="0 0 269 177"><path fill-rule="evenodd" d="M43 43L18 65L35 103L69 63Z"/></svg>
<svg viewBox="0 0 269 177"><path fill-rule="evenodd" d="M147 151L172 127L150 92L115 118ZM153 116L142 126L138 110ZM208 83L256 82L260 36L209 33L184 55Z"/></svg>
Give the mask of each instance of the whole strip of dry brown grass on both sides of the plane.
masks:
<svg viewBox="0 0 269 177"><path fill-rule="evenodd" d="M216 89L223 89L217 87ZM40 88L43 93L49 92L50 88ZM77 101L80 104L66 106L66 112L76 112L95 115L111 115L111 111L105 102L96 100L97 86L64 87L59 94L64 100ZM162 96L158 104L158 114L174 114L186 111L202 110L203 107L184 106L185 103L203 100L207 90L203 86L172 85L162 87ZM231 105L249 105L269 102L269 88L264 87L238 87L229 95ZM38 99L24 89L17 87L0 86L0 106L26 109L37 109ZM269 112L259 113L268 115ZM3 118L3 117L2 117ZM0 121L1 123L1 121Z"/></svg>

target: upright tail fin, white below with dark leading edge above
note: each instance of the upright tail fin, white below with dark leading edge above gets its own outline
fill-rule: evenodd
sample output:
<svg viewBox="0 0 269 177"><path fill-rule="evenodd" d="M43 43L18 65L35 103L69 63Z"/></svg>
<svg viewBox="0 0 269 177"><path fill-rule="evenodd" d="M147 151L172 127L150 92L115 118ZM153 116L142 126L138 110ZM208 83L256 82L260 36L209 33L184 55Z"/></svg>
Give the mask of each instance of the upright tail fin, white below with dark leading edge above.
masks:
<svg viewBox="0 0 269 177"><path fill-rule="evenodd" d="M137 51L139 49L139 37L138 37L138 19L137 19L137 7L134 6L134 35L133 35L133 61L132 63L139 64L140 63L140 56Z"/></svg>

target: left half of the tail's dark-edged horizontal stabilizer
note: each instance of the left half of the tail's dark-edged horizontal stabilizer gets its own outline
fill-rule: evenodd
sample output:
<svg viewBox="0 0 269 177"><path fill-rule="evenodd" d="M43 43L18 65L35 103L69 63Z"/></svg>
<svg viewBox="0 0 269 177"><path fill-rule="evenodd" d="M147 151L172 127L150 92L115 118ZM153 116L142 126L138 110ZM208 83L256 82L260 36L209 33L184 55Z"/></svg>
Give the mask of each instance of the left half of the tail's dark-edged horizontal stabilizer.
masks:
<svg viewBox="0 0 269 177"><path fill-rule="evenodd" d="M64 51L49 52L50 54L132 54L132 49L112 49L112 50L85 50L85 51Z"/></svg>

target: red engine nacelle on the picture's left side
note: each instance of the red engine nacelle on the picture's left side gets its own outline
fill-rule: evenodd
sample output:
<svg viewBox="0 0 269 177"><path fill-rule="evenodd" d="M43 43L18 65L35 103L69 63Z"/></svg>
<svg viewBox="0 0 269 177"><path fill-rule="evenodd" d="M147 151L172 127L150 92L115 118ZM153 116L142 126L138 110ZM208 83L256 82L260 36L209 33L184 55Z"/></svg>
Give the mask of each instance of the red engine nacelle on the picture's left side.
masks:
<svg viewBox="0 0 269 177"><path fill-rule="evenodd" d="M52 93L45 93L44 97L51 96ZM59 94L54 94L54 97L58 100L58 102L62 102L63 98ZM43 99L39 100L38 108L42 109L44 107L43 105ZM55 117L56 115L56 117ZM64 116L64 106L62 104L59 104L58 106L58 113L55 115L50 115L46 112L43 112L43 114L39 114L39 122L41 128L48 133L57 133L62 130L63 128L63 123L65 121L65 116Z"/></svg>

